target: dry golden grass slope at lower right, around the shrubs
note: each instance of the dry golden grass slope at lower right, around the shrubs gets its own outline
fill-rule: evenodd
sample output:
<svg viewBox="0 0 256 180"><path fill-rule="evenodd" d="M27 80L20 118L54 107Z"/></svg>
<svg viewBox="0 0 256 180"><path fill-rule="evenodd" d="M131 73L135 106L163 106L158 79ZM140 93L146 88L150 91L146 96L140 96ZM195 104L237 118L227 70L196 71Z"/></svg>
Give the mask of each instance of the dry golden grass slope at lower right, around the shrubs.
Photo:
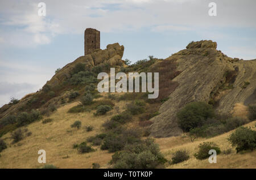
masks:
<svg viewBox="0 0 256 180"><path fill-rule="evenodd" d="M255 122L250 122L245 126L253 127L255 130ZM234 130L233 130L234 131ZM175 165L169 165L167 168L256 168L256 151L237 154L236 149L228 142L228 137L231 132L213 137L196 139L193 143L190 142L187 136L178 136L171 138L156 139L156 143L160 145L160 149L164 156L171 160L173 153L179 149L186 149L189 152L189 160ZM203 142L214 142L221 151L232 149L230 155L217 155L217 163L210 164L207 160L197 160L193 155L198 151L198 145Z"/></svg>

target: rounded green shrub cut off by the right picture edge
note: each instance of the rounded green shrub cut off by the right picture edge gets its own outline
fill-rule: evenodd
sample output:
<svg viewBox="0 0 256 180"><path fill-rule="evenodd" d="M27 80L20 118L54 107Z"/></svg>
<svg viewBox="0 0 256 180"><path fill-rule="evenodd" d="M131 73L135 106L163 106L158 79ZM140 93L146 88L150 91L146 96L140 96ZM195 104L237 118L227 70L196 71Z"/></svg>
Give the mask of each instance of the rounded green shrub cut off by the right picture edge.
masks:
<svg viewBox="0 0 256 180"><path fill-rule="evenodd" d="M229 136L229 142L237 152L256 148L256 131L248 127L239 127Z"/></svg>

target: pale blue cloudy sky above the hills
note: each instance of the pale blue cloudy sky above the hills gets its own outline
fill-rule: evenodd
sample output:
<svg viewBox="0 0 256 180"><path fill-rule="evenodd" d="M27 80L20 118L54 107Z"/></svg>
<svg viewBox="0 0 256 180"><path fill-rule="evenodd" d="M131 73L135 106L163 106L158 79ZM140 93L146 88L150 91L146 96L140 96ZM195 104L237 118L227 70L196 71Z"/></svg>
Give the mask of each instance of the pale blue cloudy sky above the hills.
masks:
<svg viewBox="0 0 256 180"><path fill-rule="evenodd" d="M38 11L46 5L46 16ZM209 16L209 3L216 16ZM38 91L55 70L84 55L84 31L122 59L167 58L190 41L213 40L229 57L256 59L255 0L0 0L0 106Z"/></svg>

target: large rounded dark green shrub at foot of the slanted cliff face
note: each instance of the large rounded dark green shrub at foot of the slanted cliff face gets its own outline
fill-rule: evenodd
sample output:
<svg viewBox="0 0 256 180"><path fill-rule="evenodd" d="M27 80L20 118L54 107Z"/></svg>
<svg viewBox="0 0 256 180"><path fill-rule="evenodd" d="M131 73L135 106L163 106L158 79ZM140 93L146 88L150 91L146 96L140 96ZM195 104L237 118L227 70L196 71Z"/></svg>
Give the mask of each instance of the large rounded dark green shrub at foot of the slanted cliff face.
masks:
<svg viewBox="0 0 256 180"><path fill-rule="evenodd" d="M178 123L184 132L203 126L208 118L214 117L211 105L204 102L191 102L177 113Z"/></svg>

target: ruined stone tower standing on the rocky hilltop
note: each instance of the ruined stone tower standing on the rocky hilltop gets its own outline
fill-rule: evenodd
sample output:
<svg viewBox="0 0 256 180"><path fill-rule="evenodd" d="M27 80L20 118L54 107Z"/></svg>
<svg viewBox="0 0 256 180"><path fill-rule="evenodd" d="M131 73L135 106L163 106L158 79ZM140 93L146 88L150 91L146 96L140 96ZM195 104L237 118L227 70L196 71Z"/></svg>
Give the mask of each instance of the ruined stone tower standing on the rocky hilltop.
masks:
<svg viewBox="0 0 256 180"><path fill-rule="evenodd" d="M84 55L92 53L95 49L100 49L100 31L87 28L84 32Z"/></svg>

